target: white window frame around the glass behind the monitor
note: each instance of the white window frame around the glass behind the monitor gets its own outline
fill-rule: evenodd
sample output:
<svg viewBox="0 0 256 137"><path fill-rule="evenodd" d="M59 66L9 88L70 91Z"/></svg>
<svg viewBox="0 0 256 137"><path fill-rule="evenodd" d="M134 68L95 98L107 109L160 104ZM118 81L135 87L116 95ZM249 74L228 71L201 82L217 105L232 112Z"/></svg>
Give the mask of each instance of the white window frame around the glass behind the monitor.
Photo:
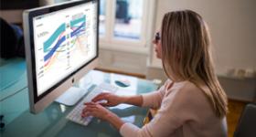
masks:
<svg viewBox="0 0 256 137"><path fill-rule="evenodd" d="M116 0L106 0L105 6L105 34L100 36L100 48L148 55L152 45L153 30L155 30L155 0L144 0L140 40L115 38L113 31Z"/></svg>

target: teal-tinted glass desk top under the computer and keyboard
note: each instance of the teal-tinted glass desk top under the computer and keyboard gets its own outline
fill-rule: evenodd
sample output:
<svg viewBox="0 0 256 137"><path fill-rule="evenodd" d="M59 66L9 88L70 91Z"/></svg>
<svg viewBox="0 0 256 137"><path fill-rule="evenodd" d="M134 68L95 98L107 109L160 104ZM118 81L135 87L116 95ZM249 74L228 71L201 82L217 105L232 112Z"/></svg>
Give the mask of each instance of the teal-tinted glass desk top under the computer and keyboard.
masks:
<svg viewBox="0 0 256 137"><path fill-rule="evenodd" d="M6 66L9 68L6 68ZM6 74L7 71L9 72L8 75ZM82 126L67 120L66 115L73 107L67 107L57 102L51 103L48 108L37 115L31 114L28 103L26 63L23 59L9 60L5 65L0 66L0 73L2 84L0 114L5 115L5 128L0 131L1 137L120 136L120 133L106 121L94 118L88 126ZM158 88L153 82L145 79L104 73L97 70L91 70L83 79L80 79L76 86L88 89L88 92L90 92L93 89L91 85L98 85L101 82L115 85L114 81L116 79L128 79L131 82L130 87L119 87L116 93L119 95L141 94ZM125 104L109 109L120 116L123 121L133 122L139 127L143 126L144 117L147 113L146 108Z"/></svg>

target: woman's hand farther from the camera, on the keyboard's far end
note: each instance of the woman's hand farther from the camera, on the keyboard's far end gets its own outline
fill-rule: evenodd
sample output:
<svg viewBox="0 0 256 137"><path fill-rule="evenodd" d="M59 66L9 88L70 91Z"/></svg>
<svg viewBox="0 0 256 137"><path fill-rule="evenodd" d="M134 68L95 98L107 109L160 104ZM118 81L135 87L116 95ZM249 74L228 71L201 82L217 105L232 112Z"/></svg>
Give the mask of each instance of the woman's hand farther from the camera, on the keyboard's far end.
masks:
<svg viewBox="0 0 256 137"><path fill-rule="evenodd" d="M114 95L112 93L108 93L108 92L103 92L98 96L96 96L94 99L92 99L93 102L97 102L100 100L107 100L107 102L105 103L100 103L102 106L106 106L106 107L112 107L112 106L116 106L123 103L122 97Z"/></svg>

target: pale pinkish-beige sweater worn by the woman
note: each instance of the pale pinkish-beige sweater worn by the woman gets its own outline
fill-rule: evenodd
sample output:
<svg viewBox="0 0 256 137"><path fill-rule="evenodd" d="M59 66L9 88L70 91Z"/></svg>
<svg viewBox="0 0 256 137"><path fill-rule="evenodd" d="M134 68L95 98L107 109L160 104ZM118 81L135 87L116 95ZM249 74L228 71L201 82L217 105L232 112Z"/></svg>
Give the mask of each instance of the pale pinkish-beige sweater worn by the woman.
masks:
<svg viewBox="0 0 256 137"><path fill-rule="evenodd" d="M208 90L207 87L203 88ZM165 85L143 95L143 107L159 109L143 128L124 123L124 137L226 137L226 118L216 117L202 90L189 81Z"/></svg>

